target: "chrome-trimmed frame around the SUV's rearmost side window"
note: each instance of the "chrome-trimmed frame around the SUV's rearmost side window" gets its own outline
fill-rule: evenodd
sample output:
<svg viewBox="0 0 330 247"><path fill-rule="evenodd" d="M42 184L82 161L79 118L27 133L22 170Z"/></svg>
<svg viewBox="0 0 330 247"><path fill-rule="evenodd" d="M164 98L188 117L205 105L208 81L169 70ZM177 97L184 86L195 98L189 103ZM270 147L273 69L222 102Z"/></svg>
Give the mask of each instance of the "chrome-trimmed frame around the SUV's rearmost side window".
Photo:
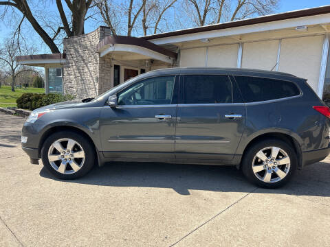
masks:
<svg viewBox="0 0 330 247"><path fill-rule="evenodd" d="M278 80L278 81L282 81L282 82L289 82L289 83L293 83L296 88L299 91L298 95L294 95L294 96L289 96L289 97L281 97L281 98L277 98L277 99L267 99L267 100L262 100L262 101L256 101L256 102L246 102L243 93L241 92L241 88L239 87L239 83L236 81L236 77L248 77L248 78L260 78L260 79L269 79L269 80ZM243 103L244 104L260 104L260 103L271 103L271 102L278 102L278 101L282 101L282 100L287 100L287 99L294 99L296 97L302 97L303 96L303 91L301 91L300 86L292 81L292 80L283 80L283 79L279 79L279 78L272 78L272 77L267 77L267 76L256 76L256 75L232 75L232 79L234 80L234 82L236 83L237 89L239 89L239 92L241 93L241 97L243 99Z"/></svg>

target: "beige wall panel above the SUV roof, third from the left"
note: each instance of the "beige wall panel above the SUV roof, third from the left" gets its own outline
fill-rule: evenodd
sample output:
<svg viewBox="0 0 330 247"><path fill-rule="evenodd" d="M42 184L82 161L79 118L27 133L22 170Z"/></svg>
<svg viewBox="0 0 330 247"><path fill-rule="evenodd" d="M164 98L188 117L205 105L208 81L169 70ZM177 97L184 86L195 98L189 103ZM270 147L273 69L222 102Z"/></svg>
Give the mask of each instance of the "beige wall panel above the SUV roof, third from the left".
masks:
<svg viewBox="0 0 330 247"><path fill-rule="evenodd" d="M277 61L278 40L245 43L242 68L270 71Z"/></svg>

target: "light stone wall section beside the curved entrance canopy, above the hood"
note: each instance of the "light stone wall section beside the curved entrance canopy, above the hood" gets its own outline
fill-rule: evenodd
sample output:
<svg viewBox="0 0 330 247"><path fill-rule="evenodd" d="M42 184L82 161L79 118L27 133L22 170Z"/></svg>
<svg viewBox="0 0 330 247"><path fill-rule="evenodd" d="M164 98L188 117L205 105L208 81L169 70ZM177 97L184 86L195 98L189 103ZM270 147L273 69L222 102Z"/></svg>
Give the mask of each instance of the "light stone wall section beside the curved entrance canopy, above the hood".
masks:
<svg viewBox="0 0 330 247"><path fill-rule="evenodd" d="M67 60L63 69L65 93L85 98L96 97L111 89L111 63L100 58L97 50L100 40L110 34L109 28L99 27L89 34L64 39Z"/></svg>

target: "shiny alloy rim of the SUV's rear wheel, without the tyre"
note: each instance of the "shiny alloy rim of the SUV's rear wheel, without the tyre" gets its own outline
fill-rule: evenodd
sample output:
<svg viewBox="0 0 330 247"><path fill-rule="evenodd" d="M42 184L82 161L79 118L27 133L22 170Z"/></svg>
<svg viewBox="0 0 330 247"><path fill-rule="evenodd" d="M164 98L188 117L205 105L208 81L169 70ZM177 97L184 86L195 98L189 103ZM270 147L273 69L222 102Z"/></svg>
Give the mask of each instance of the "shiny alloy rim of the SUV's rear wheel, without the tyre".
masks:
<svg viewBox="0 0 330 247"><path fill-rule="evenodd" d="M265 183L276 183L287 176L290 158L281 148L263 148L253 158L254 175Z"/></svg>

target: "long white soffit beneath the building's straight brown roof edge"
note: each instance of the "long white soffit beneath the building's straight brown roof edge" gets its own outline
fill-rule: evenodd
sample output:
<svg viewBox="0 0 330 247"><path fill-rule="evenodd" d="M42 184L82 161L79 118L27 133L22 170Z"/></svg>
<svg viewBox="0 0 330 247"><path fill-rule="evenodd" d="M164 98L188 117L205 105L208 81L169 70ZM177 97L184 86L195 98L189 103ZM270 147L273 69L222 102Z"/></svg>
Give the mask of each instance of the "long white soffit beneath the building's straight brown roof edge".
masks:
<svg viewBox="0 0 330 247"><path fill-rule="evenodd" d="M283 21L272 21L269 23L260 23L254 25L245 25L241 27L231 27L222 30L213 30L207 32L197 32L195 34L184 34L179 36L170 36L148 40L155 45L168 45L172 43L186 42L192 40L201 40L203 38L219 38L224 36L233 36L240 34L250 34L255 32L265 32L272 30L281 30L301 25L320 25L330 23L330 14L320 14L316 16L305 16L296 19L287 19Z"/></svg>

